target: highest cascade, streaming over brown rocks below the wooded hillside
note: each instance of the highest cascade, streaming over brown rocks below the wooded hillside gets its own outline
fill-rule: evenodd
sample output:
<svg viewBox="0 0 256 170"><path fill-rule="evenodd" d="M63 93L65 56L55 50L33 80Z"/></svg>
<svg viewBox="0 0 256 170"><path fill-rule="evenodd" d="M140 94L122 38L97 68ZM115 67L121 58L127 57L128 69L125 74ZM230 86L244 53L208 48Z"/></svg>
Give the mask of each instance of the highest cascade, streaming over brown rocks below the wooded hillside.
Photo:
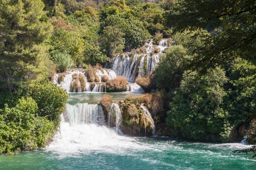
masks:
<svg viewBox="0 0 256 170"><path fill-rule="evenodd" d="M137 53L117 54L110 69L118 76L127 78L129 82L134 82L137 77L148 77L159 63L160 55L170 46L170 39L161 39L158 45L154 45L154 41L151 40L138 49Z"/></svg>

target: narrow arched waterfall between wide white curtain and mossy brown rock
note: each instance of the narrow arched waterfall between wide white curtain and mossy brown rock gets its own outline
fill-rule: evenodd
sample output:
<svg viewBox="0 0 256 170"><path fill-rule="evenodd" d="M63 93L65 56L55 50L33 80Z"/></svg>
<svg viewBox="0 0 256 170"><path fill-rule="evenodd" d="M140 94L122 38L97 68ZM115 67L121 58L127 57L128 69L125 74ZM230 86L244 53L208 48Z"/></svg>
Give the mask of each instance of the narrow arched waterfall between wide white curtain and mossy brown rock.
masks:
<svg viewBox="0 0 256 170"><path fill-rule="evenodd" d="M121 111L117 103L112 103L110 112L108 113L108 126L112 127L113 123L116 124L116 132L120 133L121 131L119 127L121 124Z"/></svg>

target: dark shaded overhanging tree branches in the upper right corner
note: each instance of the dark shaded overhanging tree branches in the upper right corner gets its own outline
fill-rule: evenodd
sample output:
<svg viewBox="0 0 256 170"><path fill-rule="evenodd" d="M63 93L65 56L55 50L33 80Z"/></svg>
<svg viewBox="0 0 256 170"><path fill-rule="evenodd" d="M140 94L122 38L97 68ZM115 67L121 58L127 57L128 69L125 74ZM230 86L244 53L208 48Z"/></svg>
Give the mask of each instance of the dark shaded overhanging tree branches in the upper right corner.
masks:
<svg viewBox="0 0 256 170"><path fill-rule="evenodd" d="M167 20L176 31L203 28L211 33L196 49L196 69L232 61L237 55L256 63L254 0L175 0Z"/></svg>

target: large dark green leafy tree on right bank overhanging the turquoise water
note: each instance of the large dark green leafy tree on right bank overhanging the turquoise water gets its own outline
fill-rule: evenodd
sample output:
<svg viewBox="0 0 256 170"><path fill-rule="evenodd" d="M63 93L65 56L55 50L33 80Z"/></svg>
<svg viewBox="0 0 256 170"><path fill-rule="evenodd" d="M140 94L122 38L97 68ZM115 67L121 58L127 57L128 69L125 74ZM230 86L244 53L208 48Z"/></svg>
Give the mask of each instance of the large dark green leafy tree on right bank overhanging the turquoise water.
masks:
<svg viewBox="0 0 256 170"><path fill-rule="evenodd" d="M227 141L232 127L223 109L227 78L221 68L209 69L204 76L186 71L174 92L167 123L182 136L195 140Z"/></svg>

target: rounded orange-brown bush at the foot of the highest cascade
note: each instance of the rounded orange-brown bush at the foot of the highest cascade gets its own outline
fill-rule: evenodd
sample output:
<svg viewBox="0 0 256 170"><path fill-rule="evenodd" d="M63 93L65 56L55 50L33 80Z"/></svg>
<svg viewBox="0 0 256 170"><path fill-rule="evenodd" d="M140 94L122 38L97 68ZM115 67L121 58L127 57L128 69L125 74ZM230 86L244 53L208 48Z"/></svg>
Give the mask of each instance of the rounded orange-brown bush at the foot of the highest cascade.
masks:
<svg viewBox="0 0 256 170"><path fill-rule="evenodd" d="M106 82L106 91L107 92L121 92L126 91L126 85L128 80L124 77L117 77L113 80L108 80Z"/></svg>

